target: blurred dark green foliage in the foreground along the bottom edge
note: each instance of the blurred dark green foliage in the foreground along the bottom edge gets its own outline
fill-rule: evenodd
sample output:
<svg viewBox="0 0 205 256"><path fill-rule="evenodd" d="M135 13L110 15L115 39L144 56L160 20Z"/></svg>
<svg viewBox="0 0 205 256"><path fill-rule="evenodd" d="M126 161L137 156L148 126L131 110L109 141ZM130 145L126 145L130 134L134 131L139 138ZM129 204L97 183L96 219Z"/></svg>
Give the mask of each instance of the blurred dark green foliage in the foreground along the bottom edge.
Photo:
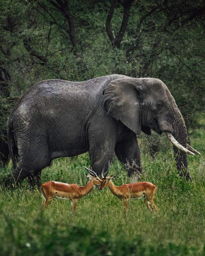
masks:
<svg viewBox="0 0 205 256"><path fill-rule="evenodd" d="M32 235L27 230L25 236L19 225L21 219L14 221L6 215L4 218L7 231L11 235L6 241L7 246L0 245L2 253L6 255L202 255L193 246L176 245L171 242L156 247L145 246L140 236L132 240L113 239L106 232L95 233L94 229L76 226L59 230L58 223L52 225L49 219L43 219L42 216L34 221ZM45 230L45 226L49 226L50 229ZM44 235L46 239L39 241L39 234L41 238ZM22 244L22 241L25 243Z"/></svg>

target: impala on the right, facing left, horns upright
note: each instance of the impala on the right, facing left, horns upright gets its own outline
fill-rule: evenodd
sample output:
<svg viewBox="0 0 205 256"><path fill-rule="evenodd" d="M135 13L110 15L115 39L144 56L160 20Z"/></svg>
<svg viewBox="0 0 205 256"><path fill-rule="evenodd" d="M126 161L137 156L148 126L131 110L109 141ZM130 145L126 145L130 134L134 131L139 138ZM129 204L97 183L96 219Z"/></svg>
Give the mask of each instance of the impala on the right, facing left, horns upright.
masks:
<svg viewBox="0 0 205 256"><path fill-rule="evenodd" d="M112 180L114 180L115 176L109 175L107 176L109 170L109 165L107 171L104 173L104 169L102 170L102 181L100 189L104 189L108 187L113 195L117 196L120 200L123 201L125 206L125 217L127 215L127 205L128 200L130 199L141 199L144 198L144 202L148 209L152 211L155 209L157 212L159 211L158 207L154 203L154 194L156 192L156 186L150 182L136 182L130 184L124 184L122 186L115 186Z"/></svg>

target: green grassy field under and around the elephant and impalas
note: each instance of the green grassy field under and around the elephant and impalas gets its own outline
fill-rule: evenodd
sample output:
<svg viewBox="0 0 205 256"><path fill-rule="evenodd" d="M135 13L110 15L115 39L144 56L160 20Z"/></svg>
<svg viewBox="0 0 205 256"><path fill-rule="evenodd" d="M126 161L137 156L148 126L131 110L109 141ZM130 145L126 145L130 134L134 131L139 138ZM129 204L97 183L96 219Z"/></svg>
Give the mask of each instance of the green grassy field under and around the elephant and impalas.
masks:
<svg viewBox="0 0 205 256"><path fill-rule="evenodd" d="M75 215L69 201L58 199L40 212L43 199L37 189L30 192L27 181L14 191L1 188L0 255L205 255L205 136L198 131L191 139L202 153L188 157L193 183L179 178L171 149L154 161L143 153L141 181L157 186L159 216L143 200L133 200L125 220L123 203L108 189L95 188L82 198ZM90 166L87 153L56 159L43 170L42 183L85 185L84 165ZM2 169L1 175L10 171ZM117 176L116 185L135 181L116 159L109 173Z"/></svg>

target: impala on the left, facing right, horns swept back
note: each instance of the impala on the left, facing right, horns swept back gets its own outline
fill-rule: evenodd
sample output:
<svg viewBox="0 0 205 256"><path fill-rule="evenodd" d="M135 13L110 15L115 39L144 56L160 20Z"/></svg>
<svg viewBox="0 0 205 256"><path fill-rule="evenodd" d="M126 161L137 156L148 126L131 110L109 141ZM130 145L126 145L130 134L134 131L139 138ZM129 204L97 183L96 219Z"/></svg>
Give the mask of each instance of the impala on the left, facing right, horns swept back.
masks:
<svg viewBox="0 0 205 256"><path fill-rule="evenodd" d="M41 185L40 192L45 200L42 210L45 210L53 198L56 197L59 199L71 200L72 210L76 212L77 201L91 192L95 185L101 185L101 179L97 174L88 168L86 168L86 170L89 172L87 177L90 181L84 187L80 187L77 184L67 184L57 181L48 181Z"/></svg>

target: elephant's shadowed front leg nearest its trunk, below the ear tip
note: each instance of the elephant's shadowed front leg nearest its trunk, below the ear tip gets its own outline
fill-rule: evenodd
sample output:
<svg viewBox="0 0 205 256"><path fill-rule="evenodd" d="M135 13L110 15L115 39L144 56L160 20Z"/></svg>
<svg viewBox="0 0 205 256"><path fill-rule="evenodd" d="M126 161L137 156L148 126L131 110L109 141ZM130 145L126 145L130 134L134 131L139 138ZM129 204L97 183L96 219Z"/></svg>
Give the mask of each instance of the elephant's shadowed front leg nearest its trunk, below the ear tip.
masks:
<svg viewBox="0 0 205 256"><path fill-rule="evenodd" d="M140 147L133 132L130 132L126 138L116 143L115 154L125 166L129 177L134 172L142 174Z"/></svg>

